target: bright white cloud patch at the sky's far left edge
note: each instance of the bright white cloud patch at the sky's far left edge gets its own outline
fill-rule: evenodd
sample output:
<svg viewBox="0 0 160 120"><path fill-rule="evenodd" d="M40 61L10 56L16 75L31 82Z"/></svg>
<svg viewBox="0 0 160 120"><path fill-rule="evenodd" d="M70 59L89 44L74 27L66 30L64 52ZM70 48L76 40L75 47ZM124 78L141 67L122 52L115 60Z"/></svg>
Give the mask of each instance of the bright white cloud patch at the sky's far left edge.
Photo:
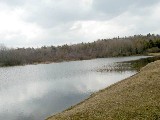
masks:
<svg viewBox="0 0 160 120"><path fill-rule="evenodd" d="M23 43L26 45L30 40L38 39L43 30L36 23L23 21L25 11L21 8L9 8L0 4L0 43L4 42L12 46Z"/></svg>

